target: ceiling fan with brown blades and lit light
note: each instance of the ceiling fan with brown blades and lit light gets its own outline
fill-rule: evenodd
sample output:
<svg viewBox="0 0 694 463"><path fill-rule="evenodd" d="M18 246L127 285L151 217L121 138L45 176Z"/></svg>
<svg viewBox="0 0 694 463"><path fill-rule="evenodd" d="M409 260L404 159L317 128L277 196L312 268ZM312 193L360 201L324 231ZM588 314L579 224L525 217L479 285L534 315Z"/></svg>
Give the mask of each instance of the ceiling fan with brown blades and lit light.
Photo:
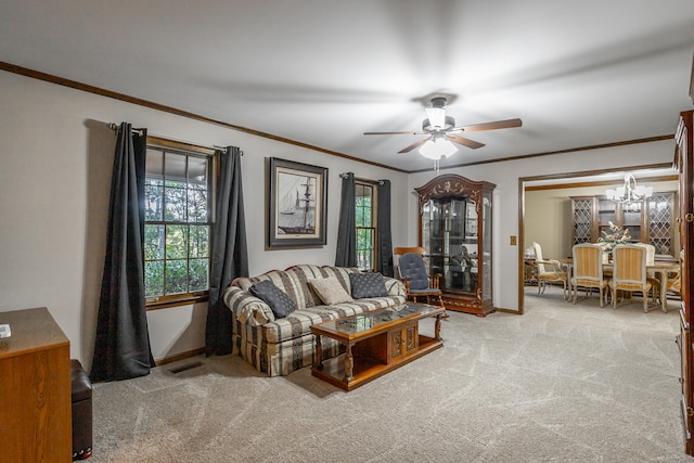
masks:
<svg viewBox="0 0 694 463"><path fill-rule="evenodd" d="M471 140L465 137L461 137L457 134L457 132L479 132L483 130L497 130L497 129L507 129L512 127L520 127L523 121L518 118L515 119L504 119L504 120L494 120L492 123L481 123L481 124L473 124L468 126L458 126L455 127L455 119L451 116L446 115L446 102L453 95L434 95L430 99L432 107L425 108L427 118L422 123L422 131L420 132L364 132L365 136L389 136L389 134L412 134L412 136L424 136L428 134L427 138L419 140L411 145L400 150L398 153L409 153L410 151L424 145L427 141L432 141L435 144L439 142L444 142L441 144L448 144L445 141L451 141L453 143L461 144L463 146L467 146L470 149L476 150L478 147L484 146L484 143L479 143L475 140ZM451 145L452 146L452 145ZM455 149L450 152L454 152ZM425 155L425 153L422 153ZM446 154L446 155L450 155ZM428 157L428 156L427 156ZM440 157L440 155L438 156Z"/></svg>

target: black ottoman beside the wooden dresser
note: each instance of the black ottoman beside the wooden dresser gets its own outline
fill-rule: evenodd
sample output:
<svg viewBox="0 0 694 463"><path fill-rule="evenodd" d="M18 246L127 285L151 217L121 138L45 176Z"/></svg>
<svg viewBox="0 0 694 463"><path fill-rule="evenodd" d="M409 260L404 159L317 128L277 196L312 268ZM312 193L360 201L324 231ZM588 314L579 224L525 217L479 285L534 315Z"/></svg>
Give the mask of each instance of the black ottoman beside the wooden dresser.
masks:
<svg viewBox="0 0 694 463"><path fill-rule="evenodd" d="M91 456L91 381L79 360L70 360L73 376L73 460Z"/></svg>

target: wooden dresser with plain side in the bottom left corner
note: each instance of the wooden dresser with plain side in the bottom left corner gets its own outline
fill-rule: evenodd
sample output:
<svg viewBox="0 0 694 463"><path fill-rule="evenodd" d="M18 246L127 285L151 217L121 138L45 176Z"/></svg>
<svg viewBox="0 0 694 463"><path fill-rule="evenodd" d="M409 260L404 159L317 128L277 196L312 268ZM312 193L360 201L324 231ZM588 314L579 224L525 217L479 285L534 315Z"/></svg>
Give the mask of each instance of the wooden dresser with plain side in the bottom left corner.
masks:
<svg viewBox="0 0 694 463"><path fill-rule="evenodd" d="M69 340L47 308L0 312L0 461L72 461Z"/></svg>

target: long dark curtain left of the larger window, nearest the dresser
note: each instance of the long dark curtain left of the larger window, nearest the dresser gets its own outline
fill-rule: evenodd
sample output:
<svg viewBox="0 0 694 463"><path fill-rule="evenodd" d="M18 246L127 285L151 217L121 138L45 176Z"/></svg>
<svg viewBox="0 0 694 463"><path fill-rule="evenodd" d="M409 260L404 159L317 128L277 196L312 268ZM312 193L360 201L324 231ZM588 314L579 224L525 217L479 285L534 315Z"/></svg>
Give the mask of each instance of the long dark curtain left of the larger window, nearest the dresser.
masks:
<svg viewBox="0 0 694 463"><path fill-rule="evenodd" d="M118 130L111 180L104 275L92 381L119 381L154 366L144 300L144 165L146 131Z"/></svg>

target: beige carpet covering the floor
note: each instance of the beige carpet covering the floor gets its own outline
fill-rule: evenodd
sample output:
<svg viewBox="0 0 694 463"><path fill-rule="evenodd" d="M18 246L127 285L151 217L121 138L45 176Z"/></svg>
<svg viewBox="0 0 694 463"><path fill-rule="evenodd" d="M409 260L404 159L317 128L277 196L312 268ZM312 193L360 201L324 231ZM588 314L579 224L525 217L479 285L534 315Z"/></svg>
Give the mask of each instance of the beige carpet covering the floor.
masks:
<svg viewBox="0 0 694 463"><path fill-rule="evenodd" d="M444 348L350 393L310 369L266 377L236 356L98 384L90 461L694 461L676 301L601 309L557 288L525 300L522 317L451 312Z"/></svg>

